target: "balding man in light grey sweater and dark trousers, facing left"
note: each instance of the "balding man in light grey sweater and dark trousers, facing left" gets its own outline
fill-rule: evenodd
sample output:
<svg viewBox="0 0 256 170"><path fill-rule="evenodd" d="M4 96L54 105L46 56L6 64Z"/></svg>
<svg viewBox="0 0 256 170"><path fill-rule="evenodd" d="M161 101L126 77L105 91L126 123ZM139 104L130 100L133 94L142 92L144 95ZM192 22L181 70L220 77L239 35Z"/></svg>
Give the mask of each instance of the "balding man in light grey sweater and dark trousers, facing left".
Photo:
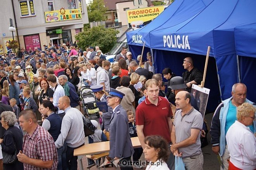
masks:
<svg viewBox="0 0 256 170"><path fill-rule="evenodd" d="M70 106L68 96L59 98L58 107L64 110L65 116L62 119L61 134L55 141L56 148L61 148L66 140L66 160L69 170L77 170L77 156L74 156L74 149L85 144L85 133L83 131L83 115L77 108Z"/></svg>

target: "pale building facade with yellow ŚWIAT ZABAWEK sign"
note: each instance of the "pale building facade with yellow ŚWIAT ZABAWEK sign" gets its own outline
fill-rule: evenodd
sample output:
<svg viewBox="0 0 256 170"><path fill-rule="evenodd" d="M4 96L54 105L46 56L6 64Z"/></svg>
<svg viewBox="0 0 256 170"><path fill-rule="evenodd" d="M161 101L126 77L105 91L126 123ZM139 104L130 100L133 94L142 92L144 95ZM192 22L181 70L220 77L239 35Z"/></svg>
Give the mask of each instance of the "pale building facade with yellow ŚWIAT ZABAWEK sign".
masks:
<svg viewBox="0 0 256 170"><path fill-rule="evenodd" d="M10 18L16 27L14 39L19 40L20 47L26 50L42 49L49 43L71 45L74 36L83 31L83 24L89 23L85 0L2 1L2 12L7 16L0 21L0 45L4 53L8 41L12 40L12 33L8 30Z"/></svg>

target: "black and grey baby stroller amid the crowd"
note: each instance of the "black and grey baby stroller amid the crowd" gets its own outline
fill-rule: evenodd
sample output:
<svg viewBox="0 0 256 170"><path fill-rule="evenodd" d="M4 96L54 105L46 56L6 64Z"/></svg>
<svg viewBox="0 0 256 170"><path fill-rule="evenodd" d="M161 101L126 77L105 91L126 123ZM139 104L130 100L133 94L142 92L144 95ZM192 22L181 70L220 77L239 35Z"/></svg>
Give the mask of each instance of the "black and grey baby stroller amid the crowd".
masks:
<svg viewBox="0 0 256 170"><path fill-rule="evenodd" d="M80 98L83 103L83 109L85 112L85 116L87 117L92 117L92 116L97 116L98 118L100 117L99 114L99 108L96 105L96 100L95 96L90 89L90 86L83 86L80 89Z"/></svg>

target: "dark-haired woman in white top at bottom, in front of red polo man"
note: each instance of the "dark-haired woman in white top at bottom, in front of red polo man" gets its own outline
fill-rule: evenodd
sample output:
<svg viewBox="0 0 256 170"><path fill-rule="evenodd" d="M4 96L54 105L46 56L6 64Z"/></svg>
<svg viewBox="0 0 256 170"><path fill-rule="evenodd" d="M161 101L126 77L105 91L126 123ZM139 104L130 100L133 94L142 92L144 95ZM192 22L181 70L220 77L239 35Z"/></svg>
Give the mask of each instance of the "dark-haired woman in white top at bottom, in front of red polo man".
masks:
<svg viewBox="0 0 256 170"><path fill-rule="evenodd" d="M168 143L161 136L147 136L144 139L145 159L150 161L146 170L169 170L165 161L168 159Z"/></svg>

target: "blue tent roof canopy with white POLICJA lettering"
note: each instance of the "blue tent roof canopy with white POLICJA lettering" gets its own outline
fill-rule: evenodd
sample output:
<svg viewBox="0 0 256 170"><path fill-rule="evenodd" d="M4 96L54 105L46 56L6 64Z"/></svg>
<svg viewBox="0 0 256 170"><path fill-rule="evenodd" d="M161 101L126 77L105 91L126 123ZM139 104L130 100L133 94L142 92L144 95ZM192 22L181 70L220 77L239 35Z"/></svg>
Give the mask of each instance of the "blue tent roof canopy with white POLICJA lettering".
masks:
<svg viewBox="0 0 256 170"><path fill-rule="evenodd" d="M148 27L128 33L128 44L142 45L129 39L139 34L147 47L154 49L206 55L207 47L211 46L210 56L235 54L234 28L256 22L256 1L213 0L209 5L201 2L199 6L176 0Z"/></svg>

